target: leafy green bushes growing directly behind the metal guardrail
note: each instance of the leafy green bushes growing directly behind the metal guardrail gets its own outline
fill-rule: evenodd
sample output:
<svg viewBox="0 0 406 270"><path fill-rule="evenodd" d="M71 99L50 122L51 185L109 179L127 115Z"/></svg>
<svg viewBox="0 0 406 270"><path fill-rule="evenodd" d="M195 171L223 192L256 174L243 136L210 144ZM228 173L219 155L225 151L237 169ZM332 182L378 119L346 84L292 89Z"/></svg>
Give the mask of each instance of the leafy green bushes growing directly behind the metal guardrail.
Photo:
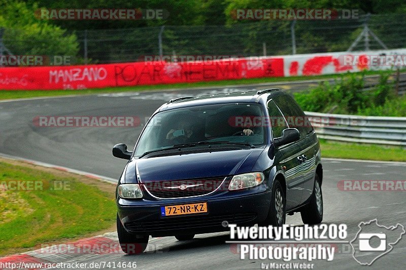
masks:
<svg viewBox="0 0 406 270"><path fill-rule="evenodd" d="M390 72L381 72L378 84L364 90L364 74L348 73L333 84L323 82L309 93L295 93L303 110L324 113L406 116L406 98L397 97Z"/></svg>

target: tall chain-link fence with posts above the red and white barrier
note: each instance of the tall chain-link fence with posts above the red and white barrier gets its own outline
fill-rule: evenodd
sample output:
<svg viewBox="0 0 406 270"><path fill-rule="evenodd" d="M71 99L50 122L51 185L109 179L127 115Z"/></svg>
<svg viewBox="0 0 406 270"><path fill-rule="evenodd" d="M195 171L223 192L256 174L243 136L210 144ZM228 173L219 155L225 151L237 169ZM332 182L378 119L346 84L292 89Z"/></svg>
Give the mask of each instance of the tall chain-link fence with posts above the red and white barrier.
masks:
<svg viewBox="0 0 406 270"><path fill-rule="evenodd" d="M76 38L77 50L71 48L69 53L76 52L74 56L79 63L117 63L140 61L145 55L259 56L404 48L405 30L406 16L386 14L346 20L267 20L230 26L88 30L66 35ZM12 29L6 29L3 43L14 54L23 54L24 50L43 52L60 43L31 38L24 41L20 36L16 40L15 33L7 33L13 33ZM54 55L51 50L47 54Z"/></svg>

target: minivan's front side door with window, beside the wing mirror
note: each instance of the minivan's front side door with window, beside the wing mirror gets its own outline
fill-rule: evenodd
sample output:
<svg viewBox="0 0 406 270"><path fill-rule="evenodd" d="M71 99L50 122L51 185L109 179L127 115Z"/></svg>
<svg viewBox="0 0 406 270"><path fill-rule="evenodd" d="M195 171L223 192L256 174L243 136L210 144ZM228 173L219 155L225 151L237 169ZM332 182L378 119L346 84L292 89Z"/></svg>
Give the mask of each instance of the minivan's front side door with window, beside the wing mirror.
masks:
<svg viewBox="0 0 406 270"><path fill-rule="evenodd" d="M272 138L281 137L282 131L289 128L286 119L272 99L268 100L267 108ZM297 159L299 148L297 144L293 142L279 146L277 151L279 151L283 157L280 161L280 166L283 168L286 177L286 210L290 210L300 203L302 197L302 187L300 186L302 175L300 163Z"/></svg>

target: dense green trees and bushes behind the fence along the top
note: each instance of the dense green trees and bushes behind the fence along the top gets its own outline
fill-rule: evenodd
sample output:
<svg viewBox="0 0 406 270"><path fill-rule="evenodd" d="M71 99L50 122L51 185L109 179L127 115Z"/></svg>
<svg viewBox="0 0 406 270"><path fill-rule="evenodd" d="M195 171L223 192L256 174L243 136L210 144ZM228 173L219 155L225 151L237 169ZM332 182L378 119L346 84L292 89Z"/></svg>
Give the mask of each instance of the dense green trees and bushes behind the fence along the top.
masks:
<svg viewBox="0 0 406 270"><path fill-rule="evenodd" d="M88 57L94 59L93 63L111 63L134 61L140 55L157 55L159 53L157 36L161 25L165 25L163 53L166 55L172 55L173 51L178 55L262 55L263 43L265 43L267 55L290 54L292 53L291 20L235 20L233 16L235 10L362 9L372 14L386 13L385 16L371 16L368 25L389 48L402 47L403 40L399 38L398 33L402 33L406 25L406 18L402 16L402 12L406 11L406 4L402 0L373 2L371 4L360 3L357 0L72 0L69 2L0 0L0 25L8 28L4 39L13 54L79 56L78 43L83 48L86 29L88 30L86 34ZM46 9L163 9L169 16L165 19L140 20L44 20L34 15L39 7ZM389 18L389 15L392 17ZM298 20L295 24L296 52L345 51L358 36L361 26L362 19ZM388 31L388 27L392 31ZM121 31L115 29L121 29ZM356 49L359 47L362 45ZM380 49L381 46L371 40L370 48ZM79 54L83 55L83 51L81 50Z"/></svg>

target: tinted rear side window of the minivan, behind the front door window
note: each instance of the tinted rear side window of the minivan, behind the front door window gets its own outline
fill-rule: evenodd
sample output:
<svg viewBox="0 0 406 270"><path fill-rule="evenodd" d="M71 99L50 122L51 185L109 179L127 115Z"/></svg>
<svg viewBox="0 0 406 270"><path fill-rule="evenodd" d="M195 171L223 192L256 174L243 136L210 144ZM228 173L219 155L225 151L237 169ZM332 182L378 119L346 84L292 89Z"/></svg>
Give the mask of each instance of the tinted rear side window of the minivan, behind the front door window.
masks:
<svg viewBox="0 0 406 270"><path fill-rule="evenodd" d="M313 127L296 101L289 95L279 96L274 100L285 115L289 127L299 131L300 139L306 138Z"/></svg>

